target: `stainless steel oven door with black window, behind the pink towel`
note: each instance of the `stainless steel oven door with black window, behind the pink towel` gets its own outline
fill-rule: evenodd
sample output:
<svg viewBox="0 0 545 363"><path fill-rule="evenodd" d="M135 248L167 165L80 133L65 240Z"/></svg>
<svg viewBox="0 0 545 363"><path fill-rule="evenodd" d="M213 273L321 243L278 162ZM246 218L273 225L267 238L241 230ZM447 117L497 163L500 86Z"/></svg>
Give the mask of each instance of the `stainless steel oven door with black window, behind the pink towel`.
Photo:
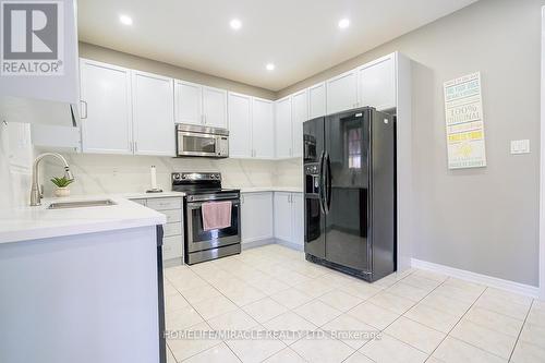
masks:
<svg viewBox="0 0 545 363"><path fill-rule="evenodd" d="M221 229L205 231L203 229L204 203L210 201L230 201L231 202L231 226ZM240 198L213 198L208 201L187 201L186 202L186 240L185 247L189 253L220 247L223 245L241 242L240 229Z"/></svg>

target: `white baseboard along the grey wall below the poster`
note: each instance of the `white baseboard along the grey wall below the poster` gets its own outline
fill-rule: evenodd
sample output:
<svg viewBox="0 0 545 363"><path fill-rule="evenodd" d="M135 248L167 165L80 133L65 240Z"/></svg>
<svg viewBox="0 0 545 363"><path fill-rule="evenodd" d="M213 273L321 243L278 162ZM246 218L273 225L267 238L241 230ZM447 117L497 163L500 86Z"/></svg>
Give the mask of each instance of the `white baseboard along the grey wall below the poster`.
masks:
<svg viewBox="0 0 545 363"><path fill-rule="evenodd" d="M427 261L421 261L416 258L411 258L411 266L414 268L425 269L433 273L456 277L462 280L481 283L491 288L520 293L535 299L538 299L540 297L540 288L530 285L504 280L497 277L476 274L464 269L434 264Z"/></svg>

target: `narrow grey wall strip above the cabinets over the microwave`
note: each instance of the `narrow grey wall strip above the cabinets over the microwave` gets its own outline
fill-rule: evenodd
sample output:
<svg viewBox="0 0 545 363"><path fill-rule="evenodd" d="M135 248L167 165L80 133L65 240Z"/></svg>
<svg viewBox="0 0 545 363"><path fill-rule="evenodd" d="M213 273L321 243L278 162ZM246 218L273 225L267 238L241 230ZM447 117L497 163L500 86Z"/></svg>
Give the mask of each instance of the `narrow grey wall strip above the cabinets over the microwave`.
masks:
<svg viewBox="0 0 545 363"><path fill-rule="evenodd" d="M110 64L116 64L120 66L125 66L138 71L161 74L165 76L170 76L173 78L179 78L187 82L195 82L211 87L239 92L251 96L263 97L267 99L276 98L276 93L274 93L272 90L254 87L244 83L217 77L214 75L196 72L185 68L167 64L164 62L124 53L121 51L95 46L83 41L80 41L80 57Z"/></svg>

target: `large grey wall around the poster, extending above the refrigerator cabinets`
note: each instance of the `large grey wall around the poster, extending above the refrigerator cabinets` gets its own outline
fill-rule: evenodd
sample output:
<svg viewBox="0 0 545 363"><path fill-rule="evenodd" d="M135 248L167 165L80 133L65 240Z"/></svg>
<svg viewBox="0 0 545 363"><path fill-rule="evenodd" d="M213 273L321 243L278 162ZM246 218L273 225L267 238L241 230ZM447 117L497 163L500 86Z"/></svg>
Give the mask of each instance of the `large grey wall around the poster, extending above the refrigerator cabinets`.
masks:
<svg viewBox="0 0 545 363"><path fill-rule="evenodd" d="M543 0L481 0L277 94L399 50L413 70L413 256L538 283L540 59ZM449 171L443 82L481 71L488 166ZM509 141L530 138L512 156Z"/></svg>

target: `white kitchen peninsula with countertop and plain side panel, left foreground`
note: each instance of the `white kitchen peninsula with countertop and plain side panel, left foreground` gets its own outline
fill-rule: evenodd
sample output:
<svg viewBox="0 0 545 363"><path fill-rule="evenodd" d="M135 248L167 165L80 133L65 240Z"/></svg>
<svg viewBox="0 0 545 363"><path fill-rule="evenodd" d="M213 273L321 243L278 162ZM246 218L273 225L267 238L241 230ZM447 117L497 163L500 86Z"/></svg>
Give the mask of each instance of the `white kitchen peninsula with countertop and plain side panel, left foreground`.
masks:
<svg viewBox="0 0 545 363"><path fill-rule="evenodd" d="M0 210L0 362L159 362L166 217L110 199Z"/></svg>

